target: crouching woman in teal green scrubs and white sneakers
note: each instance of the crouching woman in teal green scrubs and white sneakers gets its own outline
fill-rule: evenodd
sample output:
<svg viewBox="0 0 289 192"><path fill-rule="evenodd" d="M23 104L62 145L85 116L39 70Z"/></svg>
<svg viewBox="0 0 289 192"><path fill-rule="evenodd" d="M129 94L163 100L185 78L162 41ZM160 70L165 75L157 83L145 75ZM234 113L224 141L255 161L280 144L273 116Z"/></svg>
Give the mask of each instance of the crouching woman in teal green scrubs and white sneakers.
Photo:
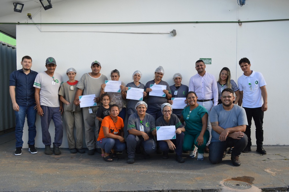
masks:
<svg viewBox="0 0 289 192"><path fill-rule="evenodd" d="M189 107L182 111L181 122L186 122L186 132L184 137L183 150L194 151L195 157L198 150L197 160L204 160L204 149L210 138L210 133L207 130L208 126L208 111L205 107L197 103L197 95L190 91L186 95ZM197 150L196 150L197 149Z"/></svg>

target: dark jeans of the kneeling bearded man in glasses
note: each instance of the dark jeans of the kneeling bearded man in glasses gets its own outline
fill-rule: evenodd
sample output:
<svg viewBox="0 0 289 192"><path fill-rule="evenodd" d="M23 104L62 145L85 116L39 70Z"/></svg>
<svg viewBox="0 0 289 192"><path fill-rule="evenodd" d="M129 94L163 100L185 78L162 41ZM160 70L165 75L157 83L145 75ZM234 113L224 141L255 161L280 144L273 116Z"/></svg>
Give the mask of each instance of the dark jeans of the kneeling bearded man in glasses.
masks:
<svg viewBox="0 0 289 192"><path fill-rule="evenodd" d="M228 147L234 147L231 153L231 156L239 156L247 146L248 137L244 134L244 137L241 139L233 139L227 137L226 141L215 141L209 145L209 160L211 163L216 164L220 163L223 159L223 153Z"/></svg>

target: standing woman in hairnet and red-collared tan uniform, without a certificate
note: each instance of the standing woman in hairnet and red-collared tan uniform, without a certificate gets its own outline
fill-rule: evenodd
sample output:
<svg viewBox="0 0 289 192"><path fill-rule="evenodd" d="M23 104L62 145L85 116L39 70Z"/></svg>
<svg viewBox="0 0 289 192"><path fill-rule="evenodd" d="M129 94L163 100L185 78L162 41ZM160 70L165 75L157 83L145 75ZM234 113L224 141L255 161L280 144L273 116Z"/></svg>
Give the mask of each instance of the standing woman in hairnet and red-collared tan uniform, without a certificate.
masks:
<svg viewBox="0 0 289 192"><path fill-rule="evenodd" d="M85 153L82 148L83 145L83 131L82 131L82 111L81 108L73 104L76 85L78 83L75 80L76 70L75 68L69 68L66 71L66 75L69 80L63 83L60 87L58 94L60 100L64 103L64 122L67 134L68 147L71 153ZM76 129L76 142L74 139L73 128Z"/></svg>

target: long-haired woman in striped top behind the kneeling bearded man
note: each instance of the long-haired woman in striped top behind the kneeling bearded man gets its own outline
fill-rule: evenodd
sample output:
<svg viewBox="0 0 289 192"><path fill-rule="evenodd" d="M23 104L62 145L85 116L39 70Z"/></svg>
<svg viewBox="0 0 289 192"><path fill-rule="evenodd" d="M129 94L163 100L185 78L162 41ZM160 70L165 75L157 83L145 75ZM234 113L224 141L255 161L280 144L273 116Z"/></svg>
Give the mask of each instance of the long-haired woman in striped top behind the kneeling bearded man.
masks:
<svg viewBox="0 0 289 192"><path fill-rule="evenodd" d="M220 71L219 80L217 81L217 85L218 85L218 94L219 94L218 104L222 103L221 95L222 95L222 91L225 88L230 88L235 92L236 98L235 98L234 104L236 104L236 105L238 104L238 101L240 99L240 91L239 91L238 85L235 83L235 81L233 79L231 79L231 72L230 72L229 68L224 67Z"/></svg>

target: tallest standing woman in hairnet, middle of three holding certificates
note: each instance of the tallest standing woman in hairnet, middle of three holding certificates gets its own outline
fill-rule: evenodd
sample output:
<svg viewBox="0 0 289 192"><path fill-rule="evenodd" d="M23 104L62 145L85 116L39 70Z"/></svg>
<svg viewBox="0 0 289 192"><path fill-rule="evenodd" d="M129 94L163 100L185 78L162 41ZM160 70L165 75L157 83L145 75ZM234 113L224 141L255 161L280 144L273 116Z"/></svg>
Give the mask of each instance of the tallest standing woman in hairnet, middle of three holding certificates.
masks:
<svg viewBox="0 0 289 192"><path fill-rule="evenodd" d="M172 98L170 86L168 85L166 81L162 81L163 76L164 76L164 68L162 66L159 66L155 70L155 79L147 82L147 84L145 85L145 92L147 92L146 98L147 98L147 105L148 105L147 113L153 115L155 119L162 116L161 105L167 102L167 100L171 100ZM166 89L163 90L164 97L149 95L149 93L152 91L151 85L153 84L166 86Z"/></svg>

